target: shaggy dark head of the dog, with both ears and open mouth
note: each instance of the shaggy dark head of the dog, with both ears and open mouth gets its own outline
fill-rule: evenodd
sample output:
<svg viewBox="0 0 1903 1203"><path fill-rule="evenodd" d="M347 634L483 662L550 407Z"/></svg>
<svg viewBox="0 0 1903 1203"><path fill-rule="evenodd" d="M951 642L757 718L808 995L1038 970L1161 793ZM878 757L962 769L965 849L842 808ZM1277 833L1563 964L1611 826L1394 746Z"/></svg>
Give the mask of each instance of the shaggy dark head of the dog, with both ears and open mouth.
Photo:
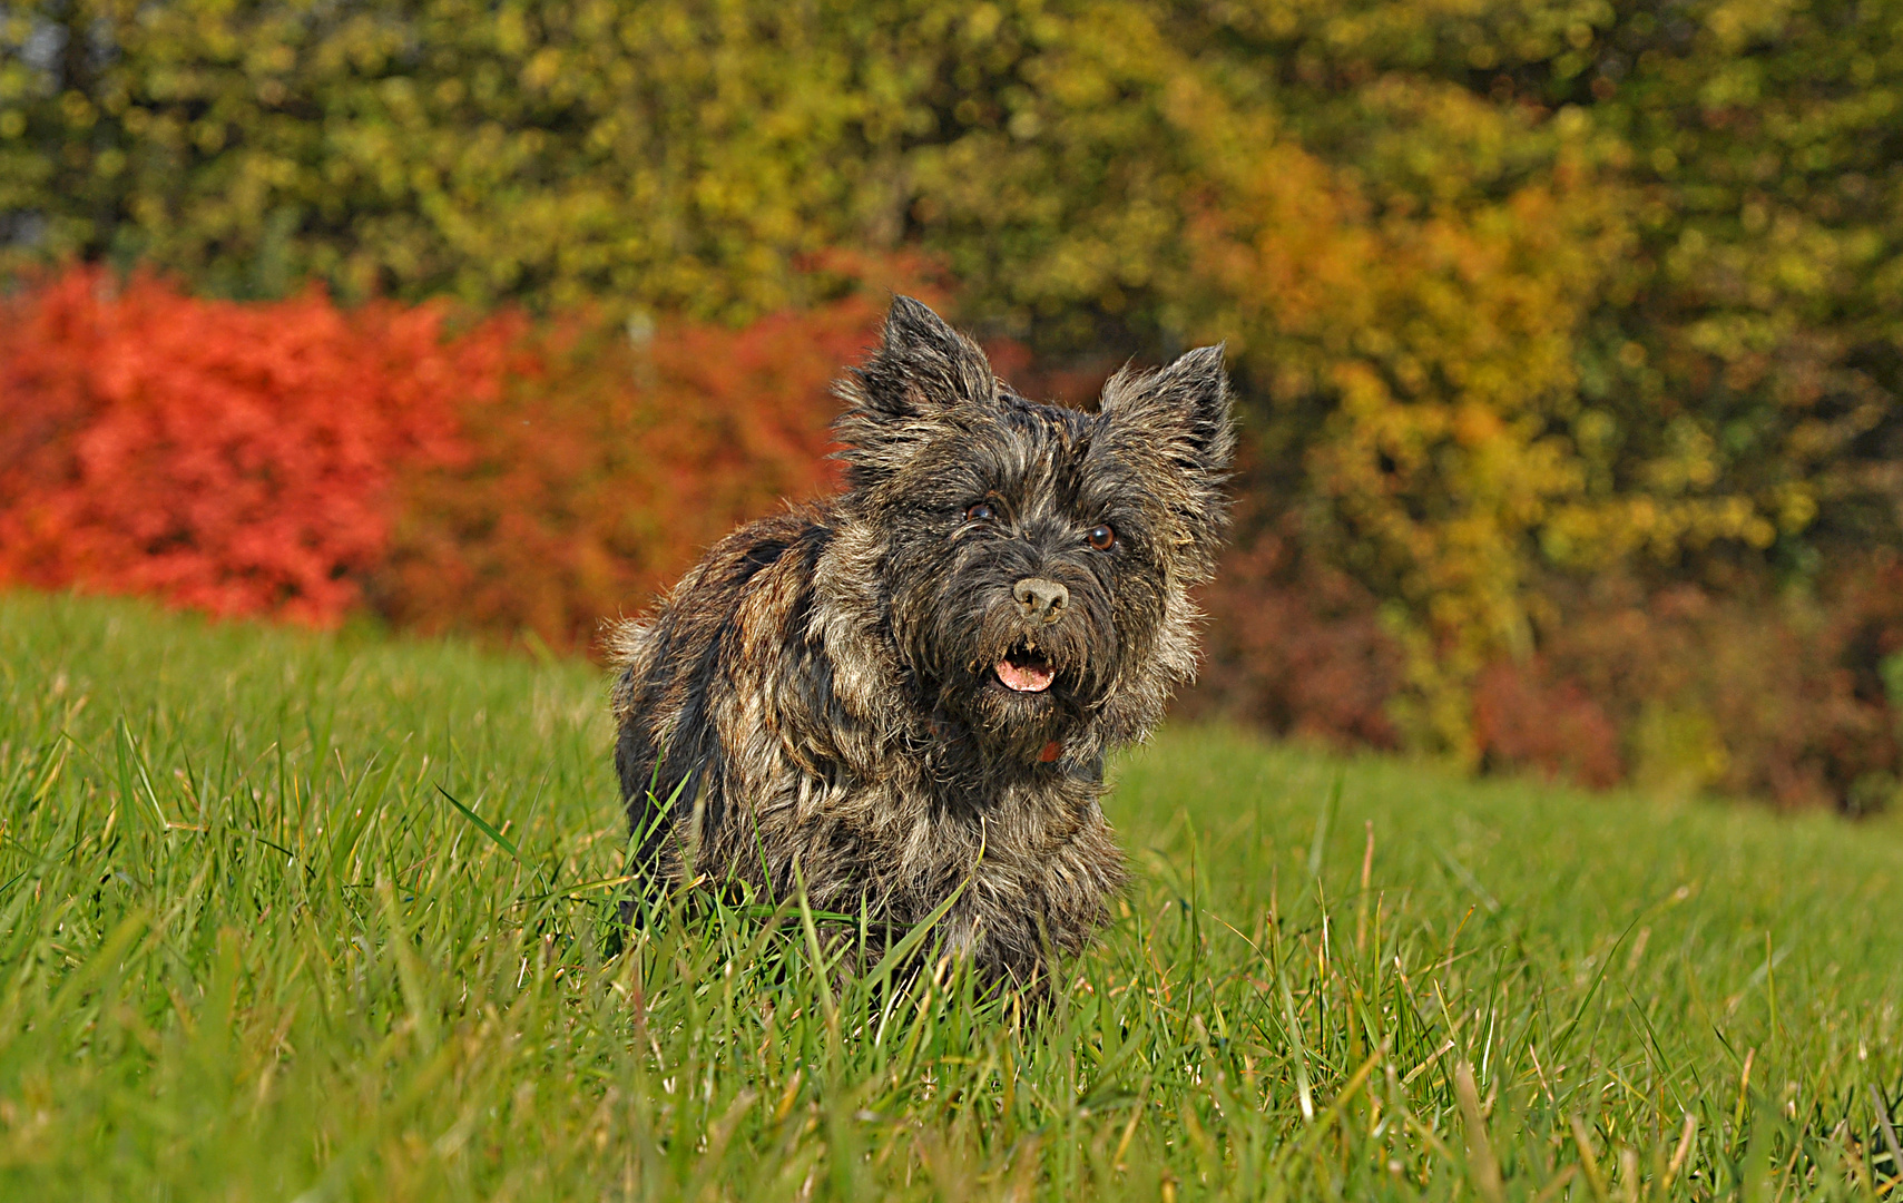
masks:
<svg viewBox="0 0 1903 1203"><path fill-rule="evenodd" d="M1016 396L900 297L839 392L847 512L875 535L893 640L934 708L1009 758L1142 737L1195 670L1187 590L1226 525L1222 350L1123 371L1083 413Z"/></svg>

